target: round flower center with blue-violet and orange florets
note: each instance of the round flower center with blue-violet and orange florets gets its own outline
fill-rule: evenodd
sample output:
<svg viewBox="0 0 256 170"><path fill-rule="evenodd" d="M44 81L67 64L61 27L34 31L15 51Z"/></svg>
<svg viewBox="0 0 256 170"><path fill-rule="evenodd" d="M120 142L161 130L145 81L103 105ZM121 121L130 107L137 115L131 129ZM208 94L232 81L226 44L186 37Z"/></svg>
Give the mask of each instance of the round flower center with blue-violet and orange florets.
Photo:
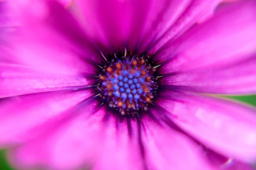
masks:
<svg viewBox="0 0 256 170"><path fill-rule="evenodd" d="M158 88L156 68L139 56L114 58L99 73L99 96L121 115L146 111Z"/></svg>

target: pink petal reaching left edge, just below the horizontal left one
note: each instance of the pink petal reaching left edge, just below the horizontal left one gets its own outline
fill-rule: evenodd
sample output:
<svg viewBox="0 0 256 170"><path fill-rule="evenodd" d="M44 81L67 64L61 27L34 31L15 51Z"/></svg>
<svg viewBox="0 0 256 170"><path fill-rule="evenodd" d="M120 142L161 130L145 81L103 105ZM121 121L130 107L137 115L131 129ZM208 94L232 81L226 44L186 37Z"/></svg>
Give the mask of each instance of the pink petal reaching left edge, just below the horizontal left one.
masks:
<svg viewBox="0 0 256 170"><path fill-rule="evenodd" d="M90 91L56 91L2 99L0 105L0 145L26 142L40 135L27 133L90 96ZM44 128L41 130L44 131Z"/></svg>

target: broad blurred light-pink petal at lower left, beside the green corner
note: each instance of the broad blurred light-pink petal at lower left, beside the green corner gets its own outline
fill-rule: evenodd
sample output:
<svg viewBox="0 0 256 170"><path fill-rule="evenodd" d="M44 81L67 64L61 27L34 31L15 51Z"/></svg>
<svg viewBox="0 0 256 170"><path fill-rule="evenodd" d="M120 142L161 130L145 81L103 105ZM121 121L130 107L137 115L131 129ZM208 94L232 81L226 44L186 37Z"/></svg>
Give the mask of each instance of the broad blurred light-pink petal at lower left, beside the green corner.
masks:
<svg viewBox="0 0 256 170"><path fill-rule="evenodd" d="M87 163L91 166L101 150L101 132L105 109L92 113L95 102L86 108L71 112L67 122L58 122L50 133L27 142L10 153L17 167L44 167L54 170L71 170ZM47 124L46 124L47 126Z"/></svg>

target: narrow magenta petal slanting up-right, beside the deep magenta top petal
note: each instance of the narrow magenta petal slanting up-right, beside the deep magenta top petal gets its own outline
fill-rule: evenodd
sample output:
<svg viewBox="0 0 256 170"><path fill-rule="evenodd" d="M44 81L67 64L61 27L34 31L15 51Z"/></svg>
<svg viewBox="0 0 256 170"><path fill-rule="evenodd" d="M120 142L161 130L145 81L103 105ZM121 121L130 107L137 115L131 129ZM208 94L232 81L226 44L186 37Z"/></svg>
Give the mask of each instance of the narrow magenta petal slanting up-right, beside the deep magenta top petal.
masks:
<svg viewBox="0 0 256 170"><path fill-rule="evenodd" d="M143 53L145 48L152 45L175 24L191 2L192 0L145 0L144 4L149 6L137 44L138 53Z"/></svg>

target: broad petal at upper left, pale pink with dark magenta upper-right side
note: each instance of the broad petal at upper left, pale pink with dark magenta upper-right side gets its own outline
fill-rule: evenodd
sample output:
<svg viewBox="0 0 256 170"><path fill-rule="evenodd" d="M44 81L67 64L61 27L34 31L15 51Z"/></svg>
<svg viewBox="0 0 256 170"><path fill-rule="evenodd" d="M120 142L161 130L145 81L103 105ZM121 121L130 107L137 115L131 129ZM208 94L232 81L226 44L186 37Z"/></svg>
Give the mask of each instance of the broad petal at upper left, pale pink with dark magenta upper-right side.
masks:
<svg viewBox="0 0 256 170"><path fill-rule="evenodd" d="M91 63L101 58L64 6L53 0L16 1L12 8L23 24L11 39L17 62L47 73L94 73L97 64Z"/></svg>

